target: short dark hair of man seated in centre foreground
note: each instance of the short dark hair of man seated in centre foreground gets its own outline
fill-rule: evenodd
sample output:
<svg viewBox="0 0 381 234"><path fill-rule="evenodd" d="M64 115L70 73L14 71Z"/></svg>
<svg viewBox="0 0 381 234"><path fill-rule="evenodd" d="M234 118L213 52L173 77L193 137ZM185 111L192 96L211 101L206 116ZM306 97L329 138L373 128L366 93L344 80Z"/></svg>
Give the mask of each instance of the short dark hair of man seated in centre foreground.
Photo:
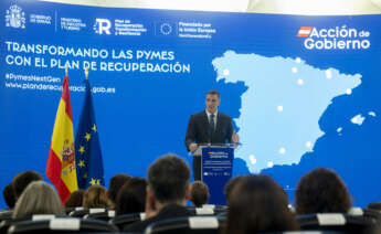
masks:
<svg viewBox="0 0 381 234"><path fill-rule="evenodd" d="M159 158L148 169L148 183L161 203L182 200L189 187L189 178L187 162L172 153Z"/></svg>

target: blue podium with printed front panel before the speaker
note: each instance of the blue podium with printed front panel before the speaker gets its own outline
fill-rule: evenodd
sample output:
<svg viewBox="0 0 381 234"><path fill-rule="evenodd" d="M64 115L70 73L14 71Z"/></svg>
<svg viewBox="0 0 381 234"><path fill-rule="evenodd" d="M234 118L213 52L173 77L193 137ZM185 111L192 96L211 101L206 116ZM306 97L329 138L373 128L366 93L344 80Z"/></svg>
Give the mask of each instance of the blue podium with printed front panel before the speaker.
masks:
<svg viewBox="0 0 381 234"><path fill-rule="evenodd" d="M223 190L232 178L234 143L199 145L193 157L201 157L201 180L209 187L209 203L225 205Z"/></svg>

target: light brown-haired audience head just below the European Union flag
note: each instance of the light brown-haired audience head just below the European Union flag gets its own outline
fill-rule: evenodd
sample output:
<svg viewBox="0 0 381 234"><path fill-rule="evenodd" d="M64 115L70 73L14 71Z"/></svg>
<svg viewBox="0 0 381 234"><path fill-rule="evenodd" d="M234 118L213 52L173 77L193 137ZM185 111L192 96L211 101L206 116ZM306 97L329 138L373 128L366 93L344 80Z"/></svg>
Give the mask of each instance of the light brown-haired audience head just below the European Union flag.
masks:
<svg viewBox="0 0 381 234"><path fill-rule="evenodd" d="M83 196L82 206L92 208L104 208L108 209L110 206L110 201L106 195L106 189L102 185L94 184L89 187Z"/></svg>

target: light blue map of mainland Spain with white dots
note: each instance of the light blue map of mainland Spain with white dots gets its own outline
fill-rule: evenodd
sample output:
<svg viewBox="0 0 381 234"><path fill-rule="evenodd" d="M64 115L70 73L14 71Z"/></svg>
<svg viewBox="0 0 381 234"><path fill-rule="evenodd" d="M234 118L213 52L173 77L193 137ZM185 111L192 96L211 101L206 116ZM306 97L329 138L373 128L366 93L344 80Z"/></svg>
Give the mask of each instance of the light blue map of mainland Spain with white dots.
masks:
<svg viewBox="0 0 381 234"><path fill-rule="evenodd" d="M216 79L244 82L240 128L242 146L235 156L251 172L275 164L298 163L324 135L319 119L332 98L351 95L361 75L319 70L299 57L265 57L227 51L212 61Z"/></svg>

